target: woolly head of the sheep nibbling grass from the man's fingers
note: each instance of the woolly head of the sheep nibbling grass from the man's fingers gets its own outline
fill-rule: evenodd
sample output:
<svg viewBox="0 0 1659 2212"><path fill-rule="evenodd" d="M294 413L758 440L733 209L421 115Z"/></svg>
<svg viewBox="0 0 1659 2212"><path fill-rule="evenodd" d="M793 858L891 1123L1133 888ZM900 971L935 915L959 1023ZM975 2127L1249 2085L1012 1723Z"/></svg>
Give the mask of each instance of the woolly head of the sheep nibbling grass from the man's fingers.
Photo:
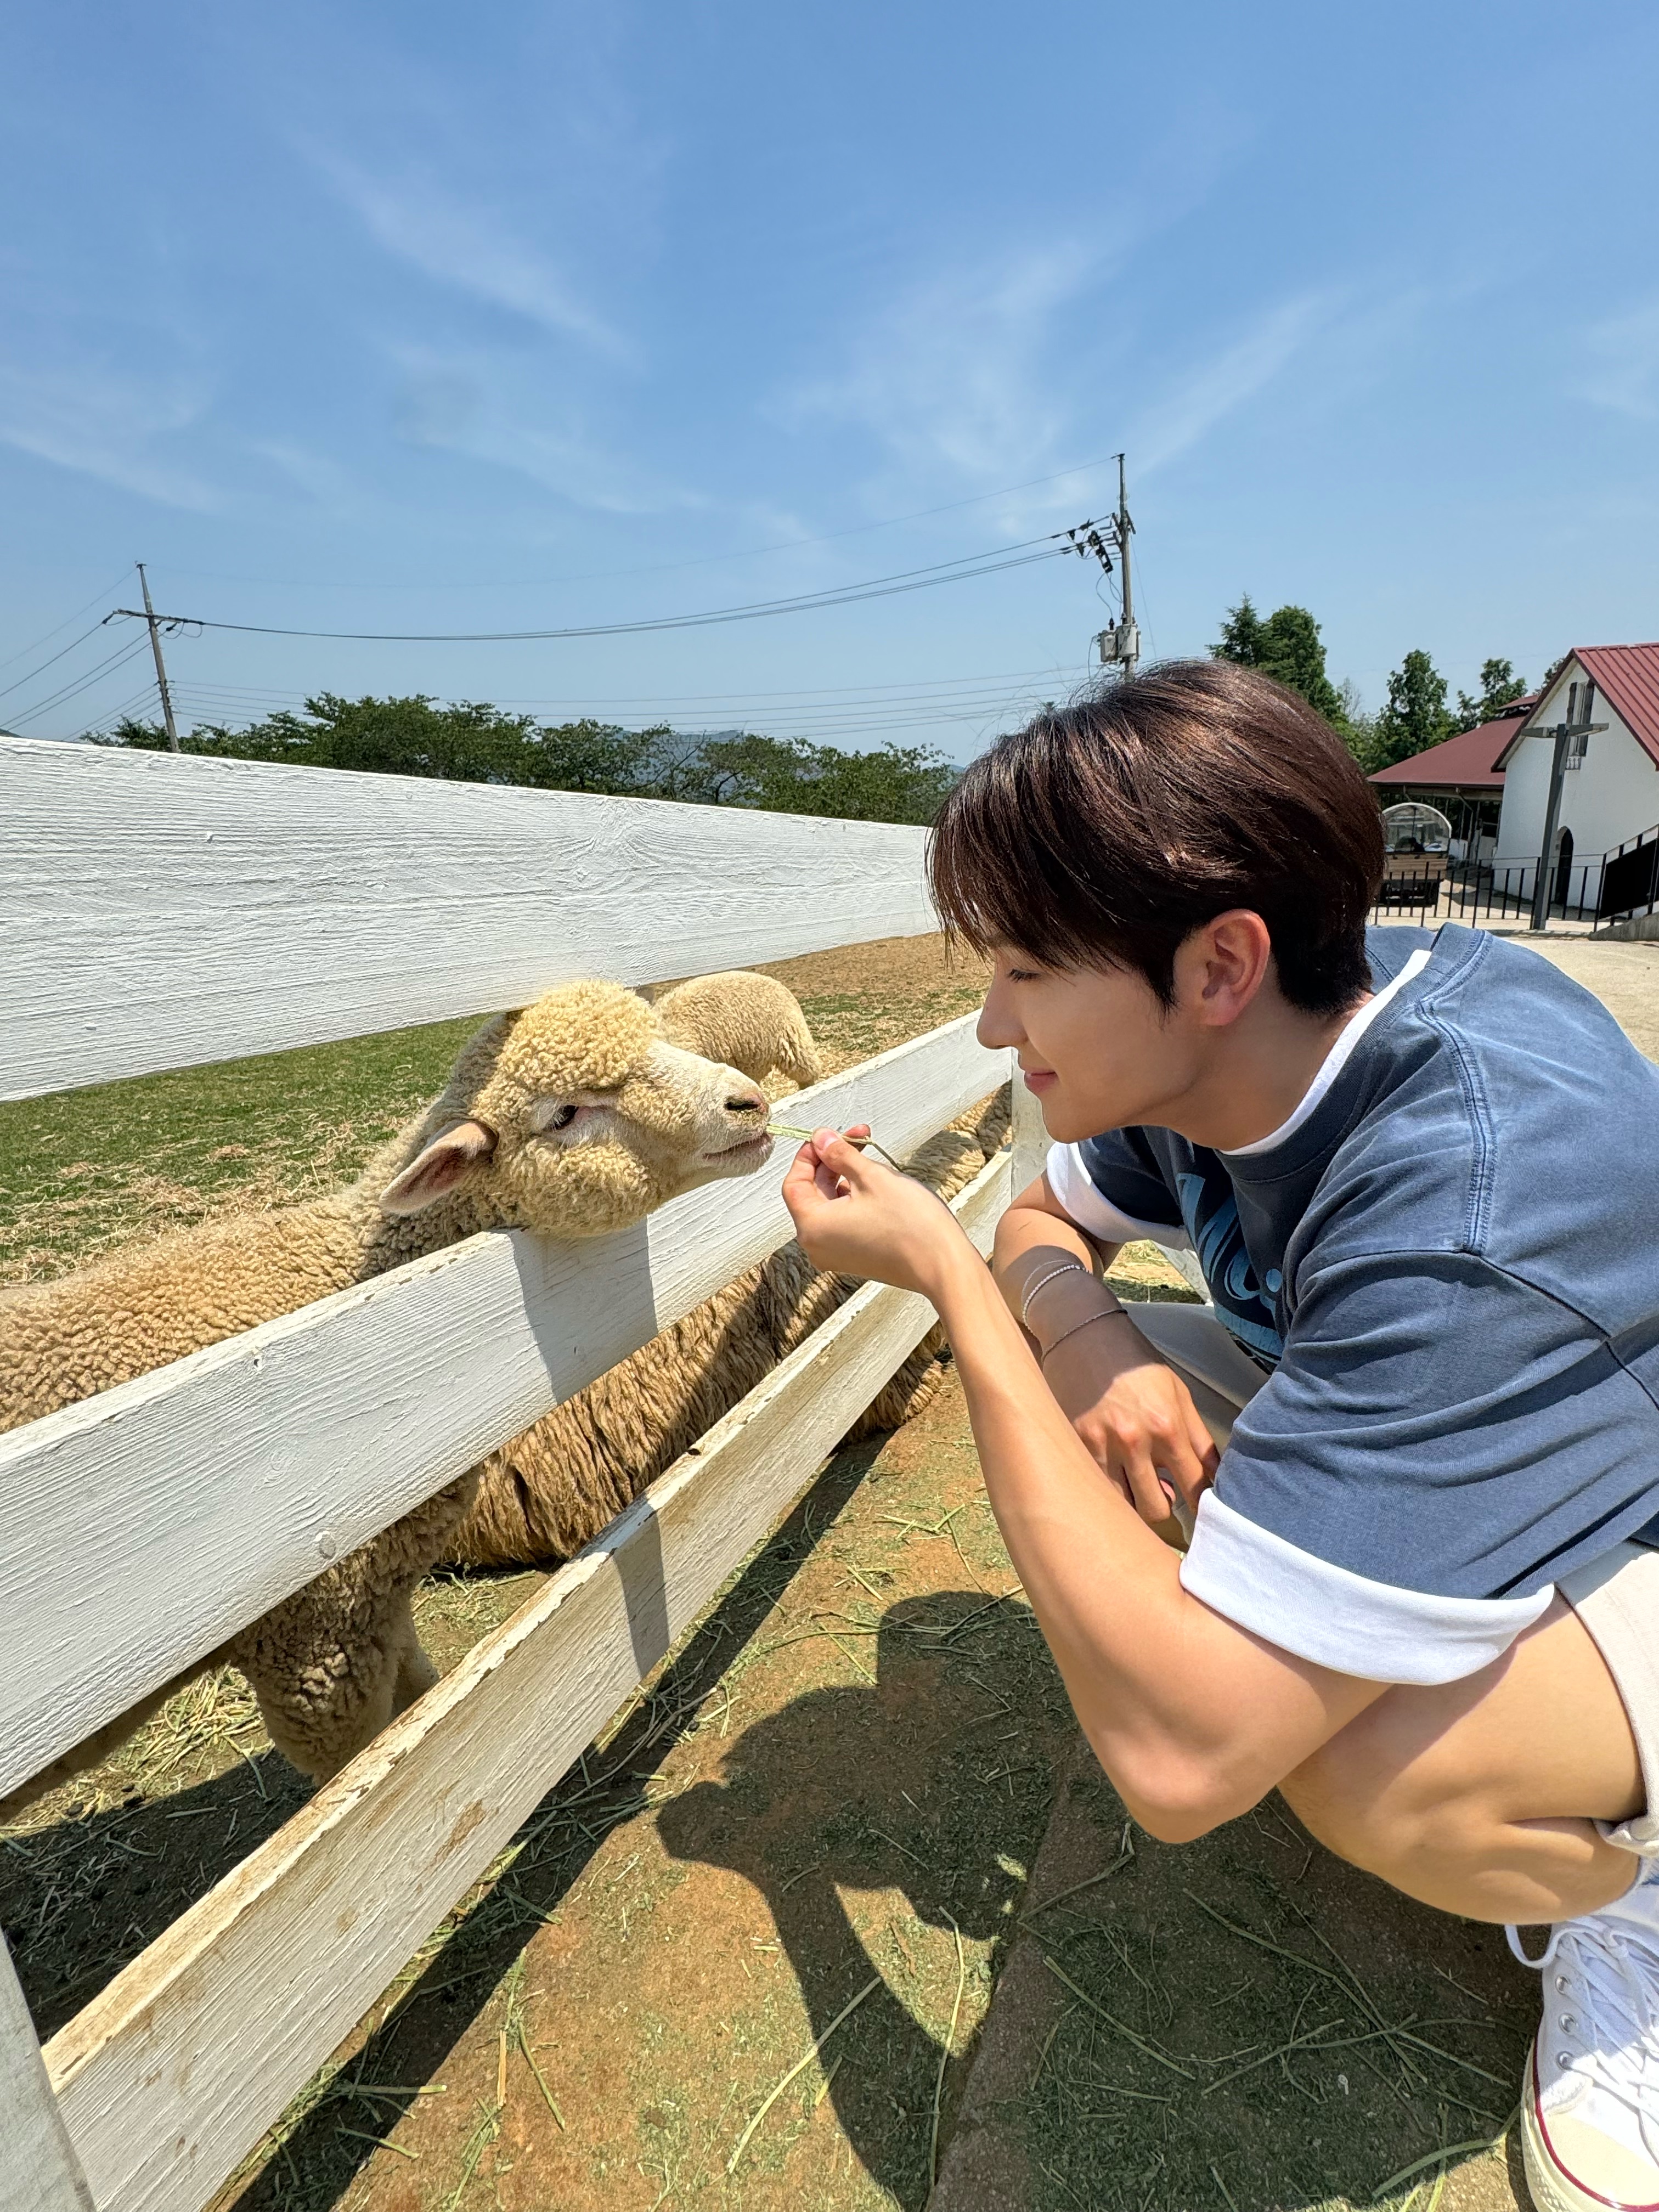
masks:
<svg viewBox="0 0 1659 2212"><path fill-rule="evenodd" d="M564 984L509 1018L467 1106L383 1192L387 1212L465 1181L502 1228L597 1237L772 1157L759 1084L668 1044L619 984Z"/></svg>

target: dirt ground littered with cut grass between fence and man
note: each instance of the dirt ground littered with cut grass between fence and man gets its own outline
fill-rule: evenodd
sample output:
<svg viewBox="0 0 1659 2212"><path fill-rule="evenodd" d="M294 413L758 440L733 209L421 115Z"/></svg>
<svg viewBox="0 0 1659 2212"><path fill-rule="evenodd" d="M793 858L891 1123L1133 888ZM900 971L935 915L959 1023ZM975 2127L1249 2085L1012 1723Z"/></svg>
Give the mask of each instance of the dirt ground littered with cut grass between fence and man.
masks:
<svg viewBox="0 0 1659 2212"><path fill-rule="evenodd" d="M1130 1827L951 1378L830 1464L217 2212L920 2212L936 2163L933 2212L1427 2212L1535 2004L1502 1931L1276 1801ZM1509 2146L1451 2166L1440 2212L1513 2208Z"/></svg>

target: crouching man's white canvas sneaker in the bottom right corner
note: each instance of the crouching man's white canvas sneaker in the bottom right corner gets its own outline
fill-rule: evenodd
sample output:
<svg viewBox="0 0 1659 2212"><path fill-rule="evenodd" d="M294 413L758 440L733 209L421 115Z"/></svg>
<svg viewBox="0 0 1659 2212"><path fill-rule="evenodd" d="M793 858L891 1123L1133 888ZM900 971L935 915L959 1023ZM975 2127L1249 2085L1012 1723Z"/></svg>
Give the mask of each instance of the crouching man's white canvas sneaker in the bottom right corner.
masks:
<svg viewBox="0 0 1659 2212"><path fill-rule="evenodd" d="M1659 1863L1599 1913L1562 1920L1542 1958L1544 2020L1522 2086L1537 2212L1659 2212Z"/></svg>

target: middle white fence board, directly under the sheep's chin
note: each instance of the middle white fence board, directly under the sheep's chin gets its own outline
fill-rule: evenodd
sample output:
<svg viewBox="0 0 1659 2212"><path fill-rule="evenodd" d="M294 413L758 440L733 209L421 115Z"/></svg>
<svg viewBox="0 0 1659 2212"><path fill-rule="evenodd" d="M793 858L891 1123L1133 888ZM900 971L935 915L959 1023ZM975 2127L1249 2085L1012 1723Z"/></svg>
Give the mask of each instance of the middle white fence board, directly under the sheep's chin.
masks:
<svg viewBox="0 0 1659 2212"><path fill-rule="evenodd" d="M785 1110L902 1157L1006 1071L967 1015ZM615 1237L473 1237L0 1436L0 1794L787 1243L790 1150Z"/></svg>

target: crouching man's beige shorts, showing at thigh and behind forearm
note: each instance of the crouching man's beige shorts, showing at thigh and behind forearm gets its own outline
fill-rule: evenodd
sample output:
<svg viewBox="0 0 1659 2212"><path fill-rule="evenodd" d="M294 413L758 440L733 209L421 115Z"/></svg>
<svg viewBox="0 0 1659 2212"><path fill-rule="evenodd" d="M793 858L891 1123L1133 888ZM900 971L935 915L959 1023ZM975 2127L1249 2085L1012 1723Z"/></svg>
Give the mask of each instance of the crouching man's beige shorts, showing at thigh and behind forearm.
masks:
<svg viewBox="0 0 1659 2212"><path fill-rule="evenodd" d="M1135 1327L1192 1389L1217 1444L1225 1447L1232 1416L1267 1380L1203 1305L1133 1305ZM1632 1820L1597 1827L1626 1851L1659 1856L1659 1551L1615 1544L1557 1584L1590 1630L1637 1739L1648 1809Z"/></svg>

